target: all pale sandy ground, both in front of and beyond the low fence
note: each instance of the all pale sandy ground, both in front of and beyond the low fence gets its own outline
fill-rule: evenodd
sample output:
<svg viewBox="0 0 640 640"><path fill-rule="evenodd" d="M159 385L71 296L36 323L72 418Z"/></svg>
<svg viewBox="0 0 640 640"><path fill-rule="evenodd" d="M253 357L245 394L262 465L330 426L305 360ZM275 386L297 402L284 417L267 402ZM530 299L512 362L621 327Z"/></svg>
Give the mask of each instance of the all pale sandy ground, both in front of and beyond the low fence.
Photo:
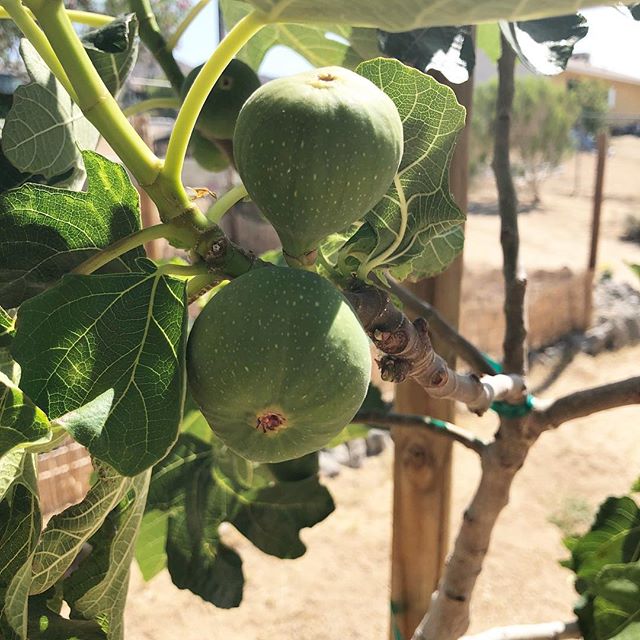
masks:
<svg viewBox="0 0 640 640"><path fill-rule="evenodd" d="M580 159L544 185L543 202L520 217L522 254L530 268L582 269L587 259L594 157ZM599 267L633 281L625 261L640 261L638 245L618 239L627 215L640 215L640 139L614 138L608 159ZM474 271L500 265L499 221L490 177L473 186L465 262ZM526 205L526 193L522 196ZM554 397L640 371L640 346L597 358L579 355L546 392ZM542 378L545 372L534 371ZM459 424L483 435L495 418L461 411ZM145 584L137 569L126 614L129 640L383 640L388 634L392 450L362 469L325 480L337 504L326 521L303 532L308 552L281 561L257 551L235 531L226 538L241 554L246 576L239 609L223 611L176 589L165 572ZM456 448L453 526L479 476L472 453ZM495 625L571 617L575 601L562 530L588 526L607 495L628 490L640 473L640 407L576 420L546 434L519 474L511 504L494 533L473 602L472 631ZM556 523L556 524L554 524Z"/></svg>

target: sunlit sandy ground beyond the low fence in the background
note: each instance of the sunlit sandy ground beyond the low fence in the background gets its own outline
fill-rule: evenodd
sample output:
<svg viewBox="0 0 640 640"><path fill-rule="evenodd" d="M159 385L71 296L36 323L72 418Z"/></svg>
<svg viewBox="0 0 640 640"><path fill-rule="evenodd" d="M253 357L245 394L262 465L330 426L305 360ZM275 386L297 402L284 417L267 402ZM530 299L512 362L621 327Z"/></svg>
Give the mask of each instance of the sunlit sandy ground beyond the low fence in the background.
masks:
<svg viewBox="0 0 640 640"><path fill-rule="evenodd" d="M627 216L640 219L640 138L611 139L605 166L604 201L598 269L610 269L616 278L633 281L625 262L640 260L640 246L622 242L619 237ZM574 271L587 266L591 238L593 185L596 156L581 153L578 162L569 159L542 185L541 202L530 209L526 186L517 185L520 194L520 238L523 264L529 269L569 267ZM579 182L576 186L576 169ZM467 269L499 268L500 220L496 214L495 186L490 175L474 180L470 187L470 211L464 247ZM474 213L475 212L475 213Z"/></svg>

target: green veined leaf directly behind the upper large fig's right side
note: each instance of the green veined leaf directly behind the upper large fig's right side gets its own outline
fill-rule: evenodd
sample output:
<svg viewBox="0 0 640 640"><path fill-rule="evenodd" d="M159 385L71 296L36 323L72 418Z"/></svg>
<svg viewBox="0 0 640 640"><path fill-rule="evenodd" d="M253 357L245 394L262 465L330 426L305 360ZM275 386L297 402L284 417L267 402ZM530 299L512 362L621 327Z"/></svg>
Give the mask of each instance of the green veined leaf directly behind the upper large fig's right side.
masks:
<svg viewBox="0 0 640 640"><path fill-rule="evenodd" d="M343 275L357 271L419 280L449 266L462 249L464 214L449 190L449 164L465 109L453 91L397 60L378 58L357 72L395 103L404 128L404 153L385 197L338 254Z"/></svg>

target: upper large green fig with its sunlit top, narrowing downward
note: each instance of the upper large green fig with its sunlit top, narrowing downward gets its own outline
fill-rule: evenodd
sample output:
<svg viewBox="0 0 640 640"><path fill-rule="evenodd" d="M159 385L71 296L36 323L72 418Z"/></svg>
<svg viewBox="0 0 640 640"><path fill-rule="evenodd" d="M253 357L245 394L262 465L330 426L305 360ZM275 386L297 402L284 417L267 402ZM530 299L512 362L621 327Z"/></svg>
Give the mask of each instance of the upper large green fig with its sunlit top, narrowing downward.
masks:
<svg viewBox="0 0 640 640"><path fill-rule="evenodd" d="M285 253L301 258L387 192L402 157L402 122L372 82L326 67L258 89L240 111L233 148L249 195Z"/></svg>

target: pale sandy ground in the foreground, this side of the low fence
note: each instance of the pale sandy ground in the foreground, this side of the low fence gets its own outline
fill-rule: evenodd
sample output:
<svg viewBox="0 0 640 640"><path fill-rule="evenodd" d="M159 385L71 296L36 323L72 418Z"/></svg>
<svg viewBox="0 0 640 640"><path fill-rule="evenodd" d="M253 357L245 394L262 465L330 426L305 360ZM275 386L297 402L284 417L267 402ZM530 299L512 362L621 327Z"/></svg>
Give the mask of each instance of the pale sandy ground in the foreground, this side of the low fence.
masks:
<svg viewBox="0 0 640 640"><path fill-rule="evenodd" d="M637 374L640 347L598 358L580 355L547 397ZM490 435L495 419L461 414L458 422ZM303 532L307 553L270 558L230 536L247 580L239 609L222 611L163 573L145 584L134 572L127 608L129 640L300 640L386 638L391 540L392 451L325 480L337 504ZM474 454L456 448L453 527L479 476ZM628 490L640 473L640 407L568 423L546 434L516 479L494 533L473 603L473 629L568 619L575 601L562 532L550 520L585 526L607 495Z"/></svg>

